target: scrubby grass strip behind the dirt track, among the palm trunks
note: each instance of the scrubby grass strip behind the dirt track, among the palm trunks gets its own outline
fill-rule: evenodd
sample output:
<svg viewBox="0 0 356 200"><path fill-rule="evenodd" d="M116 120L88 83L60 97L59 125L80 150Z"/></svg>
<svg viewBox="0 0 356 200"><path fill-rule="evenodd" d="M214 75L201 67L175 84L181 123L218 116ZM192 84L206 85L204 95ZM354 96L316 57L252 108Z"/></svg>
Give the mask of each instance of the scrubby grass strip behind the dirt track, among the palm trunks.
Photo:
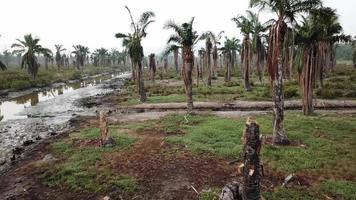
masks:
<svg viewBox="0 0 356 200"><path fill-rule="evenodd" d="M169 71L165 78L167 78L165 80L168 80L167 83L165 81L159 82L158 79L156 84L146 81L147 103L185 102L183 81L179 81L172 71ZM195 76L193 79L195 79ZM224 78L218 76L213 80L211 87L201 81L198 86L196 80L193 80L193 99L203 102L270 101L272 89L268 80L269 77L266 75L264 83L261 84L256 75L253 74L251 76L252 91L245 90L241 75L236 72L233 74L231 82L225 83ZM315 97L321 99L355 99L356 70L353 70L349 65L338 65L335 72L326 74L324 87L315 89L314 93ZM127 84L126 92L120 95L122 98L119 98L119 104L123 106L140 104L134 83ZM285 81L284 96L286 100L300 99L297 74L295 74L294 79Z"/></svg>

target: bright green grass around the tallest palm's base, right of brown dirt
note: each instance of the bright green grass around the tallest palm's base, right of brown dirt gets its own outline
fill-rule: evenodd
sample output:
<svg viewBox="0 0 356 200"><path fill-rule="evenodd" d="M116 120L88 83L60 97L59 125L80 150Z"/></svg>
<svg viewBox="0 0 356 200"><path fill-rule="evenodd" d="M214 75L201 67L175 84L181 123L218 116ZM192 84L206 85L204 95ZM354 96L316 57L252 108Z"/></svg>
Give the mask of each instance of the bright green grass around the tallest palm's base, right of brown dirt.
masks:
<svg viewBox="0 0 356 200"><path fill-rule="evenodd" d="M272 133L272 117L257 116L261 133ZM240 156L241 136L245 119L226 119L215 116L169 115L148 123L126 126L136 131L157 130L184 133L169 136L172 144L184 145L196 154L211 153L223 158ZM340 115L303 116L288 112L285 128L291 140L302 141L306 148L264 146L262 159L265 168L282 172L318 177L309 188L292 187L264 191L266 199L355 199L356 182L345 181L356 174L355 117ZM201 199L214 199L207 192Z"/></svg>

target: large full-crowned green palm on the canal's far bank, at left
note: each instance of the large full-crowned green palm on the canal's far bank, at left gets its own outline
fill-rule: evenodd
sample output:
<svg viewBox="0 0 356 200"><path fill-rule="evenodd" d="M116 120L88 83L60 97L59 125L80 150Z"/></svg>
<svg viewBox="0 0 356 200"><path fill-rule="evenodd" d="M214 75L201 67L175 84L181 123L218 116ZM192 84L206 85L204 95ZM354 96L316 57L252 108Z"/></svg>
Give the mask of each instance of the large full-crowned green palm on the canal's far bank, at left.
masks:
<svg viewBox="0 0 356 200"><path fill-rule="evenodd" d="M22 61L21 67L27 67L28 73L33 79L36 78L39 68L36 54L48 54L51 51L42 47L39 43L39 38L33 38L31 34L25 35L24 40L17 39L19 43L11 45L11 48L16 48L15 53L21 53Z"/></svg>

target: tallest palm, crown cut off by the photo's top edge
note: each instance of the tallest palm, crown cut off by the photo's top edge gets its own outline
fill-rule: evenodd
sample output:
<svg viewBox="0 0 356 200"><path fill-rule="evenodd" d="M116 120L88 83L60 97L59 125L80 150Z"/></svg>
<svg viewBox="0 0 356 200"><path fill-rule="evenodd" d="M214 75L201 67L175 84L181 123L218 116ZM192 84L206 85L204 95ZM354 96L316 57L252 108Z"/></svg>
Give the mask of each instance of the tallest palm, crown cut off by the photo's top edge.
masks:
<svg viewBox="0 0 356 200"><path fill-rule="evenodd" d="M293 4L296 1L298 2ZM260 9L268 7L277 14L277 21L270 28L267 53L268 72L273 85L273 140L276 144L290 143L284 129L283 95L283 68L289 60L289 57L286 56L289 48L287 14L292 11L294 13L308 12L318 5L320 5L320 0L250 0L250 7L260 7Z"/></svg>

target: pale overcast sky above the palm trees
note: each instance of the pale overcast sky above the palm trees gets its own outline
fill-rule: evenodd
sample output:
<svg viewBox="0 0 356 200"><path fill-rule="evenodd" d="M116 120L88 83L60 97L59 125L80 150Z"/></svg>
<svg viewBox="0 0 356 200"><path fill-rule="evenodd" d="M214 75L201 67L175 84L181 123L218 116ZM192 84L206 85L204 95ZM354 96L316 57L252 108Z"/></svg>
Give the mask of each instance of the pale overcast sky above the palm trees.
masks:
<svg viewBox="0 0 356 200"><path fill-rule="evenodd" d="M130 21L124 6L128 5L134 18L143 11L154 11L156 22L148 28L143 41L146 53L160 53L165 47L170 30L163 30L168 19L185 22L196 18L195 29L240 37L231 18L244 14L249 0L0 0L0 51L10 49L16 38L32 33L41 44L54 49L63 44L68 50L82 44L95 48L121 47L117 32L130 31ZM336 8L346 34L356 35L355 0L324 0L326 6ZM187 6L188 5L188 6ZM262 20L273 17L268 12L260 14Z"/></svg>

